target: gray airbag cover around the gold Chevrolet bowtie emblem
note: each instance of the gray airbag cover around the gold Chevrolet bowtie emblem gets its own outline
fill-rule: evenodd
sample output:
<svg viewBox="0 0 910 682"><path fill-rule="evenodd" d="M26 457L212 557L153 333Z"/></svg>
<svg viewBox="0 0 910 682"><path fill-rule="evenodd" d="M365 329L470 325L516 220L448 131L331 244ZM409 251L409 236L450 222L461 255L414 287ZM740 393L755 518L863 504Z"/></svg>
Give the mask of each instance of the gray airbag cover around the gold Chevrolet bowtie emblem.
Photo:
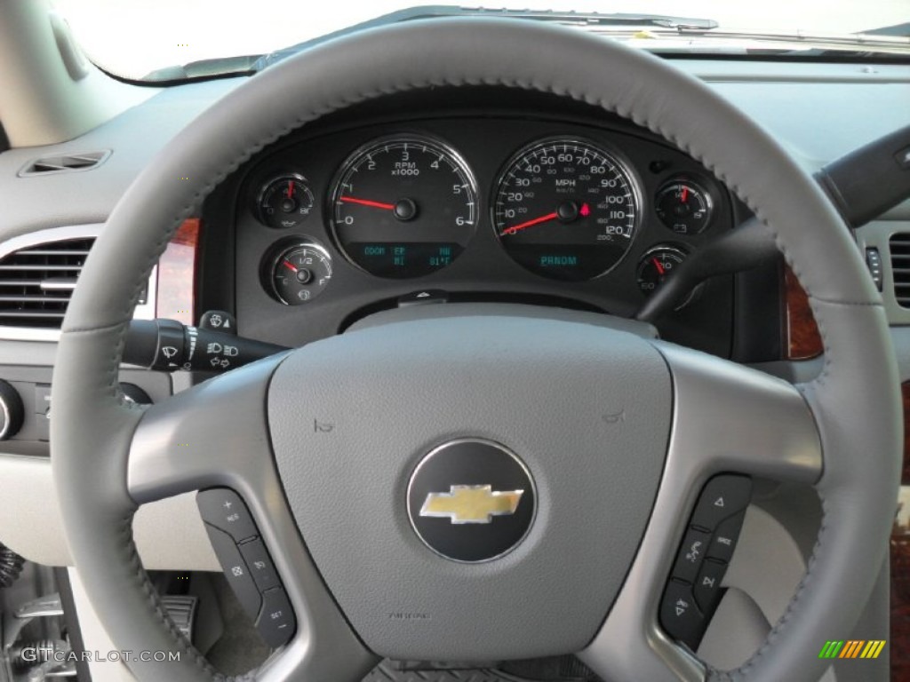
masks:
<svg viewBox="0 0 910 682"><path fill-rule="evenodd" d="M669 371L647 340L505 316L319 341L288 356L268 392L278 470L308 550L359 637L398 659L587 645L641 540L671 412ZM415 467L460 438L505 446L536 485L527 536L483 563L438 556L408 517Z"/></svg>

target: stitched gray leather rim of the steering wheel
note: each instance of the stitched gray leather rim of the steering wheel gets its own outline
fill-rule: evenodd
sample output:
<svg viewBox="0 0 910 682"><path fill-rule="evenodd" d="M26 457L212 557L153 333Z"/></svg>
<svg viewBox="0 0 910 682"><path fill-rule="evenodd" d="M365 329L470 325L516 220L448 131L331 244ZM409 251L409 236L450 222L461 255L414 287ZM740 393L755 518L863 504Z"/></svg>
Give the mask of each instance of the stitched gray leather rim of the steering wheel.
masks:
<svg viewBox="0 0 910 682"><path fill-rule="evenodd" d="M824 472L815 482L824 521L807 574L763 647L743 667L709 675L769 682L818 677L826 664L816 652L830 633L854 625L894 516L900 399L880 296L812 178L703 83L601 37L496 19L383 27L275 65L187 126L116 206L66 315L51 425L72 556L116 645L185 654L178 663L134 664L140 679L215 675L163 617L130 530L136 501L126 486L127 460L142 409L124 402L117 369L126 326L157 257L218 183L282 135L374 97L441 85L539 90L622 115L702 161L775 232L824 338L824 370L800 386L824 451ZM855 571L855 557L875 569Z"/></svg>

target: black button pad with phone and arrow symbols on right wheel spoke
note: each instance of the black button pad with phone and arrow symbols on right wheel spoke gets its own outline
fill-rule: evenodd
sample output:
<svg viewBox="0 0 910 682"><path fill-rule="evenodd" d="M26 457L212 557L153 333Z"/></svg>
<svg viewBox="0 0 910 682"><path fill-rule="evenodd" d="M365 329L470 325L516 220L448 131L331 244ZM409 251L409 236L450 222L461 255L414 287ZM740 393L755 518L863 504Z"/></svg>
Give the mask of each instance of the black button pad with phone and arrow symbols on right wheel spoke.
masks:
<svg viewBox="0 0 910 682"><path fill-rule="evenodd" d="M748 476L722 474L704 486L664 588L660 622L693 651L723 597L723 577L752 496Z"/></svg>

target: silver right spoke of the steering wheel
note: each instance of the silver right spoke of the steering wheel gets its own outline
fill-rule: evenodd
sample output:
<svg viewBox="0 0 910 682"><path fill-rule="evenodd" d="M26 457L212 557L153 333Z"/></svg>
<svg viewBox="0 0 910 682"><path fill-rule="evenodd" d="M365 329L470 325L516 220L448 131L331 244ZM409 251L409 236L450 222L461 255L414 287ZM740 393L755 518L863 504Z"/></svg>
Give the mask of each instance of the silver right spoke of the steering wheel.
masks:
<svg viewBox="0 0 910 682"><path fill-rule="evenodd" d="M783 379L657 342L670 367L670 447L651 521L621 593L581 658L605 679L703 679L703 664L658 621L696 498L722 472L814 484L822 450L814 416Z"/></svg>

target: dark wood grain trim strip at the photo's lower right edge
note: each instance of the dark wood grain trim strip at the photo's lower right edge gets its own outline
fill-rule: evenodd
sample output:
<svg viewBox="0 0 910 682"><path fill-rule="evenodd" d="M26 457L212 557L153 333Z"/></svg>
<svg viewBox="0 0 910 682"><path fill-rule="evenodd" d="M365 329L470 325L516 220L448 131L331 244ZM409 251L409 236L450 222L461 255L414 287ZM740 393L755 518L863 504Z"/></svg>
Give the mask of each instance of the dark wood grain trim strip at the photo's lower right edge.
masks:
<svg viewBox="0 0 910 682"><path fill-rule="evenodd" d="M904 402L904 467L900 502L891 529L891 678L910 679L910 382Z"/></svg>

